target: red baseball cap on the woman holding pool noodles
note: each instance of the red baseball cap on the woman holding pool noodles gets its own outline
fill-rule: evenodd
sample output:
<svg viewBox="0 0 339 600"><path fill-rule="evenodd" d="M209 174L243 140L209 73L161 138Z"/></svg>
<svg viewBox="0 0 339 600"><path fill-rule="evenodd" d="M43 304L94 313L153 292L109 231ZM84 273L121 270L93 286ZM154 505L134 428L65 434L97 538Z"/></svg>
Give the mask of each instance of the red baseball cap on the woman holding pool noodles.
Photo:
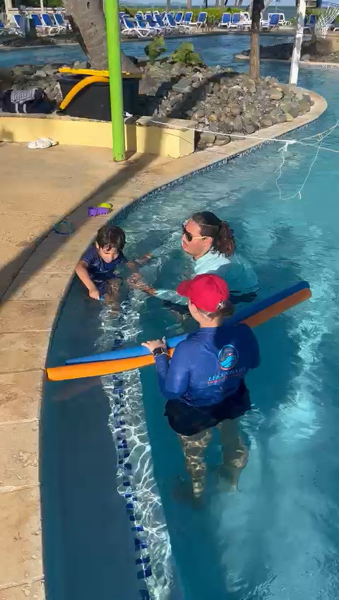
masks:
<svg viewBox="0 0 339 600"><path fill-rule="evenodd" d="M177 294L189 298L201 311L214 313L220 304L230 299L227 283L219 275L196 275L194 279L179 283Z"/></svg>

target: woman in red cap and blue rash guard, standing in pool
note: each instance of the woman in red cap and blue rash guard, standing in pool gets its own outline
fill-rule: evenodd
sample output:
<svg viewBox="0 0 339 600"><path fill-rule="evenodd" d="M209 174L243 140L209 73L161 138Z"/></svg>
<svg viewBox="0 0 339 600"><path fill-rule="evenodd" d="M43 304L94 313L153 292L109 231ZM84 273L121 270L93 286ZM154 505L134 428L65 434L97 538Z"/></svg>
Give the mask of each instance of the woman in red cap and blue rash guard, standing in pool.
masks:
<svg viewBox="0 0 339 600"><path fill-rule="evenodd" d="M258 367L260 355L247 325L227 325L225 321L234 309L222 277L197 275L179 284L177 293L189 299L189 312L200 328L177 345L170 362L165 340L143 345L155 357L160 390L167 398L165 415L182 439L194 496L199 497L206 475L203 451L211 427L219 424L223 469L232 488L237 489L247 461L238 419L251 409L244 377L249 369Z"/></svg>

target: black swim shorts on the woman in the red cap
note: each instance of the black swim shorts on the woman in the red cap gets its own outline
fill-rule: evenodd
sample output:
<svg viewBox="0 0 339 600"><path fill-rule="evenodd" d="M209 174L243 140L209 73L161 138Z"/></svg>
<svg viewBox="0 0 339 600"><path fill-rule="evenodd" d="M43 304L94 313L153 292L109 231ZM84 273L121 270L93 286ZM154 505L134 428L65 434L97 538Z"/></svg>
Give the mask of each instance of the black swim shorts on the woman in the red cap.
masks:
<svg viewBox="0 0 339 600"><path fill-rule="evenodd" d="M251 410L251 400L248 389L242 383L237 395L225 398L218 404L194 406L180 398L167 400L165 417L175 432L191 436L215 427L226 419L242 417L247 410Z"/></svg>

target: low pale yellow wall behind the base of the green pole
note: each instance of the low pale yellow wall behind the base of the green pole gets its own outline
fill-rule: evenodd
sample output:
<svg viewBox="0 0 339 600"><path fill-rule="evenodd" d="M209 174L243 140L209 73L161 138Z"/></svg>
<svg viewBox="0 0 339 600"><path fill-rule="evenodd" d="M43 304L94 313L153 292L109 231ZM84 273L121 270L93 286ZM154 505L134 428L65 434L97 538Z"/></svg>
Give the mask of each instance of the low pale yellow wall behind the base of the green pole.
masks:
<svg viewBox="0 0 339 600"><path fill-rule="evenodd" d="M29 142L50 137L71 146L112 147L109 122L69 117L0 117L1 142ZM126 151L180 158L194 152L194 130L148 125L125 125Z"/></svg>

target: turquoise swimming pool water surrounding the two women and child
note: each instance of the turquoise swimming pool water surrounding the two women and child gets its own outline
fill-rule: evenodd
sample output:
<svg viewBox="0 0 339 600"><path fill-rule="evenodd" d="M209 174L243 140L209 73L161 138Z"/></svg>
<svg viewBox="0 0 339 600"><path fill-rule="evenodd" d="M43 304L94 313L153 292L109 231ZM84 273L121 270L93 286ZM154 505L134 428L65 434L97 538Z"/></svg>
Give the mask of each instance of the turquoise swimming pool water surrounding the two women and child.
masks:
<svg viewBox="0 0 339 600"><path fill-rule="evenodd" d="M263 72L273 69L265 64ZM274 73L286 81L288 68L275 65ZM319 91L329 108L290 139L335 125L338 82L335 69L302 71L300 85ZM144 268L145 277L159 286L174 286L189 272L179 248L180 224L187 214L208 207L232 224L239 250L256 269L262 295L307 279L313 298L257 330L262 365L249 376L254 410L243 420L249 463L239 492L228 493L215 478L215 440L207 457L206 504L200 509L173 495L184 475L184 461L162 416L164 400L153 367L122 381L91 380L93 387L89 380L46 386L42 508L51 597L147 597L144 580L138 579L139 553L131 531L135 521L129 521L131 513L117 492L124 472L118 471L117 484L117 456L107 427L109 422L115 430L120 388L124 406L119 419L126 422L129 439L134 436L129 461L140 492L136 513L145 525L155 597L338 597L338 168L331 151L339 150L338 129L323 145L329 150L319 151L301 197L297 192L316 148L288 148L278 180L280 196L275 170L283 156L278 151L281 144L273 142L157 192L120 221L129 255L157 248L157 261ZM114 318L109 308L89 301L75 282L54 332L48 363L61 364L67 357L112 347L120 331L134 343L163 333L174 335L179 328L156 299L141 292L128 294L122 316ZM114 407L110 416L109 401Z"/></svg>

